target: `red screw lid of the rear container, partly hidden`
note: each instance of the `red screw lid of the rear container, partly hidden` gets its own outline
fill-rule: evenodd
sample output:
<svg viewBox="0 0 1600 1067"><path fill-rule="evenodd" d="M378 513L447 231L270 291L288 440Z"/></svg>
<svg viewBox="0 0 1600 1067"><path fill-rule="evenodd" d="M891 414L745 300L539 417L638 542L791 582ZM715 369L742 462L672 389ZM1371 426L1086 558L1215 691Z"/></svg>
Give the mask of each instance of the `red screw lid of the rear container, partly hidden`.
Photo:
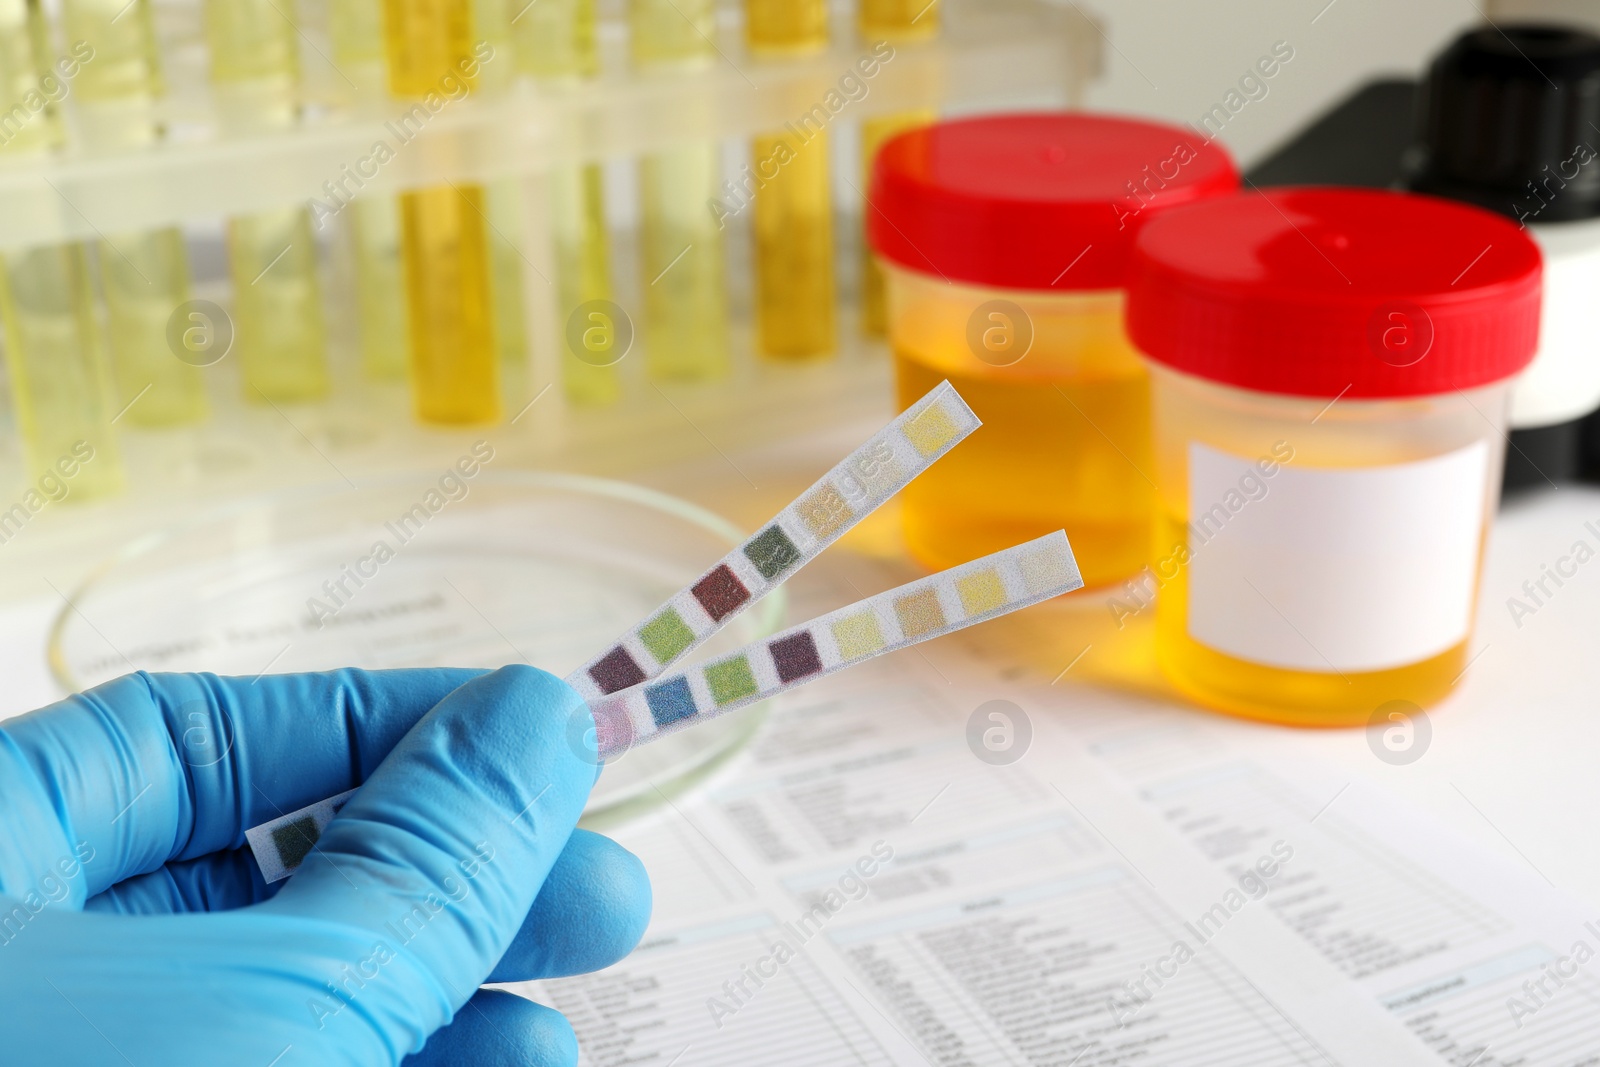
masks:
<svg viewBox="0 0 1600 1067"><path fill-rule="evenodd" d="M1192 130L1064 112L941 122L872 166L867 240L896 264L1013 290L1120 290L1139 227L1232 192L1238 173Z"/></svg>

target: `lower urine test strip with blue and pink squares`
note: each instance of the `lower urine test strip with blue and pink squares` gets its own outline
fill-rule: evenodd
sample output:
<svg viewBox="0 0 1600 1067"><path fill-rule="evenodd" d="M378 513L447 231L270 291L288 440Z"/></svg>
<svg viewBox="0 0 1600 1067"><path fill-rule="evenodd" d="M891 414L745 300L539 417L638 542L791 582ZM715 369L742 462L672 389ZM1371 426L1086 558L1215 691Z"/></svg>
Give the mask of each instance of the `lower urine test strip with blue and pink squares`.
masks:
<svg viewBox="0 0 1600 1067"><path fill-rule="evenodd" d="M598 758L1083 585L1056 531L589 702Z"/></svg>

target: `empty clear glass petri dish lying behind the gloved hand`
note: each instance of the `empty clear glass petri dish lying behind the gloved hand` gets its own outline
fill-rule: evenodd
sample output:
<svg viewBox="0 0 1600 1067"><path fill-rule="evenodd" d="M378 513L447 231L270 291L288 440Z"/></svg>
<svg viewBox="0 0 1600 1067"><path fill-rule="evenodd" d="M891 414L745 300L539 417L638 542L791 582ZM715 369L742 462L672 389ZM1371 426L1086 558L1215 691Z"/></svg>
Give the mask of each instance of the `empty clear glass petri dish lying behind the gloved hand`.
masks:
<svg viewBox="0 0 1600 1067"><path fill-rule="evenodd" d="M254 498L141 537L56 616L69 691L130 670L254 677L334 667L565 675L744 541L726 520L621 482L541 472L394 475ZM784 590L699 654L774 633ZM611 761L586 809L608 825L682 792L766 715L755 705Z"/></svg>

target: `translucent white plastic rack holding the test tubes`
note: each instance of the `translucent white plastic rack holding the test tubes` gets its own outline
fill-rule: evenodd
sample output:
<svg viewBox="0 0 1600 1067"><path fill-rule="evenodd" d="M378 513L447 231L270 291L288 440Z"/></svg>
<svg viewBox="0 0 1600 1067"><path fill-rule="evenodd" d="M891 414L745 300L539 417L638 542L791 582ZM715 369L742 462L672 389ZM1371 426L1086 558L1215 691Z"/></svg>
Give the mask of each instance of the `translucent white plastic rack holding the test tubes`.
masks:
<svg viewBox="0 0 1600 1067"><path fill-rule="evenodd" d="M944 30L933 40L896 43L864 78L858 62L874 42L853 32L803 58L750 56L741 40L738 5L718 8L720 59L698 70L638 74L626 58L621 5L602 0L602 70L581 85L552 88L518 77L496 91L448 101L382 165L362 168L362 195L395 195L446 182L512 182L520 192L520 229L507 234L525 262L523 312L530 339L525 381L504 397L498 426L419 427L402 382L363 378L355 355L354 291L339 210L317 234L328 304L330 370L326 400L304 405L250 403L237 368L222 360L205 368L211 416L176 429L118 426L128 491L98 504L93 530L70 523L72 507L51 509L62 537L51 555L90 560L139 530L170 522L205 501L274 488L414 470L448 461L478 437L493 437L507 466L555 467L629 477L645 466L736 450L819 422L883 410L890 368L883 342L858 334L850 320L858 274L862 210L861 160L835 152L835 250L843 306L837 358L776 365L752 352L749 213L728 221L730 314L734 366L725 381L667 384L646 381L624 360L619 403L568 403L557 384L563 323L554 285L549 221L552 170L598 162L611 170L674 146L725 146L726 176L749 155L752 136L781 128L840 91L854 72L864 91L846 96L834 122L835 144L856 141L866 120L931 109L944 115L1002 107L1074 106L1098 74L1101 37L1075 5L1045 0L941 0ZM229 134L208 88L200 11L194 0L158 0L168 93L157 102L165 136L128 150L90 150L69 138L48 157L0 166L0 254L13 250L94 242L106 234L182 227L190 243L194 296L229 306L221 256L222 221L320 200L326 184L371 155L378 139L395 142L386 125L405 110L395 101L350 91L325 56L326 22L314 3L294 8L304 43L304 106L286 130ZM322 21L318 21L322 19ZM851 26L835 13L835 24ZM506 56L510 64L510 58ZM70 96L66 101L70 126ZM624 195L629 192L621 182ZM315 211L315 208L314 208ZM320 214L320 213L318 213ZM637 235L629 211L610 219L616 302L640 307ZM342 251L341 251L342 250ZM637 344L637 342L635 342ZM555 386L555 387L550 387ZM530 406L531 405L531 406ZM0 419L6 416L0 414ZM515 419L515 421L514 421ZM648 459L648 464L645 462ZM0 483L11 496L30 478L11 427L0 426ZM66 512L61 515L59 512ZM8 545L21 561L21 545ZM0 598L5 590L0 590Z"/></svg>

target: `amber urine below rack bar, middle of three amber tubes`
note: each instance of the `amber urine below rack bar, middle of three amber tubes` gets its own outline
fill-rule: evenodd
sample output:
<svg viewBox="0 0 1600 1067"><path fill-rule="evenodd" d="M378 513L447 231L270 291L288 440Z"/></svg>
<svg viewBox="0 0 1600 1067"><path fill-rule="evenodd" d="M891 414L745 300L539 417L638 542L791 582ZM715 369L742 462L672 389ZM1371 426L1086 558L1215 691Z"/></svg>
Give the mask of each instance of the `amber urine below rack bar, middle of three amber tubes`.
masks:
<svg viewBox="0 0 1600 1067"><path fill-rule="evenodd" d="M835 349L834 208L827 131L755 138L755 323L763 355L805 358Z"/></svg>

